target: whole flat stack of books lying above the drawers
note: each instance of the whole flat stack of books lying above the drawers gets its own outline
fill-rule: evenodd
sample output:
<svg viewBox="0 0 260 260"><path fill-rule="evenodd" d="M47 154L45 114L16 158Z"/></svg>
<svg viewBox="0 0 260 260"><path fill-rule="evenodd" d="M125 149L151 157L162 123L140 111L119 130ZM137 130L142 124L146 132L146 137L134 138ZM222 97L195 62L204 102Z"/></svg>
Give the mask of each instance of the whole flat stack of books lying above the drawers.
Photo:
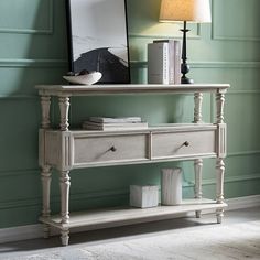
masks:
<svg viewBox="0 0 260 260"><path fill-rule="evenodd" d="M148 122L142 121L140 117L90 117L89 120L83 122L83 129L86 130L115 131L145 128L148 128Z"/></svg>

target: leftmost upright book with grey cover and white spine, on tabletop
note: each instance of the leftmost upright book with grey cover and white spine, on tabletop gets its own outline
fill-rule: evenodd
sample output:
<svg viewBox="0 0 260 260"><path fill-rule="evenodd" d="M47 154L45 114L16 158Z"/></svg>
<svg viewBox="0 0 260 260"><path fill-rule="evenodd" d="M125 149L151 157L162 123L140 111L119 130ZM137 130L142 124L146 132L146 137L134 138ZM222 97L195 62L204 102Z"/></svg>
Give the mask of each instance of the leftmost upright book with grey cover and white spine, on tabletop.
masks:
<svg viewBox="0 0 260 260"><path fill-rule="evenodd" d="M148 44L148 83L169 84L169 44Z"/></svg>

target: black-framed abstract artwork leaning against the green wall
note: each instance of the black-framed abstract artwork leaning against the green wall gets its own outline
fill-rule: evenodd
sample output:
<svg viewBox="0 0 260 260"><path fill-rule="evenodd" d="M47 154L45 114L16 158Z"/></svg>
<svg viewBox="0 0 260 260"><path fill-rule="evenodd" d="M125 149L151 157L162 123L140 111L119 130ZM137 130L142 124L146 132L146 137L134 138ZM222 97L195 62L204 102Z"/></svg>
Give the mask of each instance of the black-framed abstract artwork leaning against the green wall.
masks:
<svg viewBox="0 0 260 260"><path fill-rule="evenodd" d="M69 69L130 83L126 0L67 0Z"/></svg>

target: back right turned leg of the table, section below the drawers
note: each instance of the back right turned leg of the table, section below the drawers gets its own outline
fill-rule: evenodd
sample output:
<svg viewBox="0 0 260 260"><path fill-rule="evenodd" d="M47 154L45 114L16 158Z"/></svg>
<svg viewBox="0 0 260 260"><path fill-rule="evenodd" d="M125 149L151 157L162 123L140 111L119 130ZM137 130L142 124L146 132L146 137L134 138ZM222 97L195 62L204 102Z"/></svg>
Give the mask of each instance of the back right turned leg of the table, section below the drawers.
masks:
<svg viewBox="0 0 260 260"><path fill-rule="evenodd" d="M194 172L195 172L195 198L201 199L203 197L203 189L202 189L202 176L203 176L203 160L196 159L194 161ZM201 210L196 210L196 218L201 217Z"/></svg>

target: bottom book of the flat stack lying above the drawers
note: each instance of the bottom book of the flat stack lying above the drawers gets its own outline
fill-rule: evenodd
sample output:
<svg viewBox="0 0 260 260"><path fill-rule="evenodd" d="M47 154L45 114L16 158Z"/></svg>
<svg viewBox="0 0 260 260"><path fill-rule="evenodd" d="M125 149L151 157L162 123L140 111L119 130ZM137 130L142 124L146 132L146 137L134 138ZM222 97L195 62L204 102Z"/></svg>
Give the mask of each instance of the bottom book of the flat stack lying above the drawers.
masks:
<svg viewBox="0 0 260 260"><path fill-rule="evenodd" d="M137 130L147 129L148 122L121 122L121 123L98 123L91 121L83 122L83 129L86 130L101 130L101 131L115 131L115 130Z"/></svg>

